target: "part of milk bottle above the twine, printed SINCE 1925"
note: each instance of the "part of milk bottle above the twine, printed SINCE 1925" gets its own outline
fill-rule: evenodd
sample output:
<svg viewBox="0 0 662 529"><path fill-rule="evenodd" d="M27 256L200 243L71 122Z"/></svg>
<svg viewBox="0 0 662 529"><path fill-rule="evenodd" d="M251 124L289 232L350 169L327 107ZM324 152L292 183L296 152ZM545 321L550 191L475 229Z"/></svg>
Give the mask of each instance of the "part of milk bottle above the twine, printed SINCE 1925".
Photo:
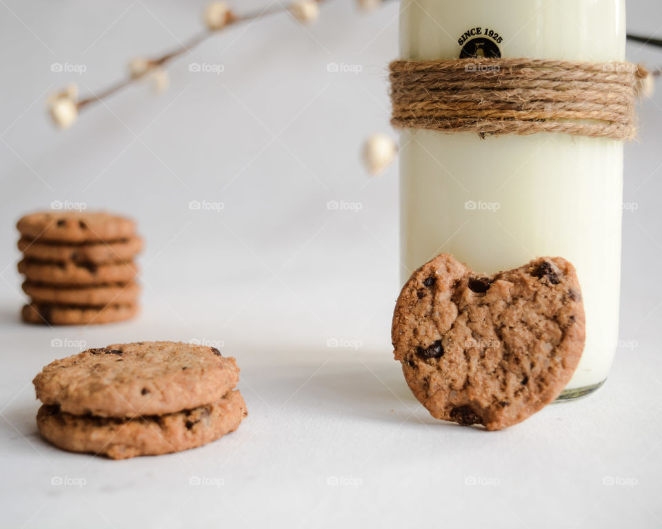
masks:
<svg viewBox="0 0 662 529"><path fill-rule="evenodd" d="M402 0L400 54L623 61L625 0Z"/></svg>

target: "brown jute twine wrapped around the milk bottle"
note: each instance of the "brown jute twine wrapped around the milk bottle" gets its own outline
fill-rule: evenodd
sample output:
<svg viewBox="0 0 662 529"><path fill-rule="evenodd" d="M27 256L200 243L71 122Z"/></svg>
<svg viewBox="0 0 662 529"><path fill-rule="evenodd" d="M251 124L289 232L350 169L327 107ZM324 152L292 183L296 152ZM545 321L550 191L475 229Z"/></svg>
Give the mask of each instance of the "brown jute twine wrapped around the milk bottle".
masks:
<svg viewBox="0 0 662 529"><path fill-rule="evenodd" d="M390 64L392 119L401 129L632 140L645 68L633 63L451 59Z"/></svg>

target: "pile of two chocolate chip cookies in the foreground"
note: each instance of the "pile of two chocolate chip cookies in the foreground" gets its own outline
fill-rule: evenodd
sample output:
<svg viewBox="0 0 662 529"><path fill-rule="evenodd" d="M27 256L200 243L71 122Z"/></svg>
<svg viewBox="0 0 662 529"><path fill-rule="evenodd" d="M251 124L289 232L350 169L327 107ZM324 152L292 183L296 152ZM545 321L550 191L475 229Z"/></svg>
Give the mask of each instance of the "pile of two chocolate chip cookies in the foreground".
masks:
<svg viewBox="0 0 662 529"><path fill-rule="evenodd" d="M248 415L239 368L218 349L137 342L55 360L34 378L37 426L52 444L112 459L210 443Z"/></svg>

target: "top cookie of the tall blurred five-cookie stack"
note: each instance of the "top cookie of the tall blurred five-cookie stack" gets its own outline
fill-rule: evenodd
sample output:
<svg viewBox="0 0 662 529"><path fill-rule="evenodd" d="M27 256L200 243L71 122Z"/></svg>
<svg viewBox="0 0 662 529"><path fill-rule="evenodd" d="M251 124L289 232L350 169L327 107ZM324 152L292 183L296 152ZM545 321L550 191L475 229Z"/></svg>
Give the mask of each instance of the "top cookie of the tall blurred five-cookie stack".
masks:
<svg viewBox="0 0 662 529"><path fill-rule="evenodd" d="M16 225L22 236L59 242L99 242L128 239L135 232L128 218L103 212L43 211L22 217Z"/></svg>

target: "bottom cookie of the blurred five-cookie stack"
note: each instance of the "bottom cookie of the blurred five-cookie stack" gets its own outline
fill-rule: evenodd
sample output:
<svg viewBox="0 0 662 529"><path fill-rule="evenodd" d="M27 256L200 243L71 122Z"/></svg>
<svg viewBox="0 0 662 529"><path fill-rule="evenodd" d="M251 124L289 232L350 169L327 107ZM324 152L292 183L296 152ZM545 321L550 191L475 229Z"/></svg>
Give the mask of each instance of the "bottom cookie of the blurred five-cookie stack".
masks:
<svg viewBox="0 0 662 529"><path fill-rule="evenodd" d="M24 322L45 325L96 325L121 322L138 313L137 304L110 304L106 307L74 307L51 303L31 302L23 306Z"/></svg>

